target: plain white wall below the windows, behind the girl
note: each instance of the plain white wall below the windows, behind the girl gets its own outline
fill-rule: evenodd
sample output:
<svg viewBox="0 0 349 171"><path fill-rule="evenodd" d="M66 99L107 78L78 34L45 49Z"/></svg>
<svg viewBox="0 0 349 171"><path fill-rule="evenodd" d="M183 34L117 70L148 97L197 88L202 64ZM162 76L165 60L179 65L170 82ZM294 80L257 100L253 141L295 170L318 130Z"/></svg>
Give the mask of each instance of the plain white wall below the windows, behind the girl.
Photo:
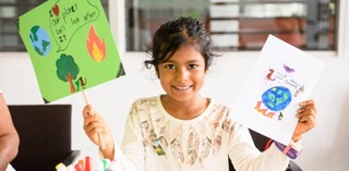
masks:
<svg viewBox="0 0 349 171"><path fill-rule="evenodd" d="M0 53L0 87L8 103L44 103L36 82L34 69L26 53ZM143 58L137 54L122 54L128 76L107 82L86 90L91 103L108 119L115 138L120 143L123 125L131 102L139 97L160 93L155 76L143 69ZM141 54L143 56L143 54ZM256 56L255 56L256 57ZM327 64L312 94L317 105L318 124L303 142L304 151L296 160L305 171L349 170L349 58L323 57ZM224 56L213 65L203 94L224 100L233 100L244 77L254 64L253 57ZM226 90L231 94L227 95ZM73 105L74 149L83 155L96 155L97 147L85 135L82 125L82 94L75 94L52 103Z"/></svg>

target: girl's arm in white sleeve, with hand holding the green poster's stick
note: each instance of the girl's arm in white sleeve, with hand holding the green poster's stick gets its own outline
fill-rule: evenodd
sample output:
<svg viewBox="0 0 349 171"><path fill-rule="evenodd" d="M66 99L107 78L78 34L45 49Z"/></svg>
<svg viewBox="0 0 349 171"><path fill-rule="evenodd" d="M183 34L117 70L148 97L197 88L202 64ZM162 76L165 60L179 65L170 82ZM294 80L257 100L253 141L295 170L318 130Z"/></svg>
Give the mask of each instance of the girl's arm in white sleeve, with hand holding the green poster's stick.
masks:
<svg viewBox="0 0 349 171"><path fill-rule="evenodd" d="M92 113L93 112L93 113ZM83 110L84 130L89 139L99 146L98 134L101 134L106 148L100 149L101 156L116 161L118 170L137 171L144 167L144 146L139 121L133 114L128 115L124 137L121 147L115 144L107 122L91 106Z"/></svg>

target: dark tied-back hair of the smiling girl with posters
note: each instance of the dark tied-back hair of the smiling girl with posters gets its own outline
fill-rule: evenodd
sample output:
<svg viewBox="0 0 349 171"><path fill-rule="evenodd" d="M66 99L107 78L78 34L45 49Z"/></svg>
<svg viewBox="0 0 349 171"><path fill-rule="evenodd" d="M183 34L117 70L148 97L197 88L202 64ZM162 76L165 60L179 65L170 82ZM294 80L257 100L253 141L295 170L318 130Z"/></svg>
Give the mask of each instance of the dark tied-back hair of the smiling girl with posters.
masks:
<svg viewBox="0 0 349 171"><path fill-rule="evenodd" d="M179 17L163 24L153 38L153 46L147 52L152 59L144 62L147 69L155 66L158 72L158 64L168 61L173 53L183 45L195 48L205 60L207 70L212 63L212 58L216 54L212 52L212 39L204 25L193 17Z"/></svg>

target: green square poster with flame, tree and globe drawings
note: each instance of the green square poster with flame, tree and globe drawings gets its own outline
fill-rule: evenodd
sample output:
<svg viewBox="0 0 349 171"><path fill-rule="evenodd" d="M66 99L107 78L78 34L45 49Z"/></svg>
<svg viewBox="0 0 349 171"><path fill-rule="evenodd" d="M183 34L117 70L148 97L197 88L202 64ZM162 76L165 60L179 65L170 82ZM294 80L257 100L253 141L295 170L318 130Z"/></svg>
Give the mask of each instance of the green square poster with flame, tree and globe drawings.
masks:
<svg viewBox="0 0 349 171"><path fill-rule="evenodd" d="M17 19L44 101L124 75L100 0L50 0Z"/></svg>

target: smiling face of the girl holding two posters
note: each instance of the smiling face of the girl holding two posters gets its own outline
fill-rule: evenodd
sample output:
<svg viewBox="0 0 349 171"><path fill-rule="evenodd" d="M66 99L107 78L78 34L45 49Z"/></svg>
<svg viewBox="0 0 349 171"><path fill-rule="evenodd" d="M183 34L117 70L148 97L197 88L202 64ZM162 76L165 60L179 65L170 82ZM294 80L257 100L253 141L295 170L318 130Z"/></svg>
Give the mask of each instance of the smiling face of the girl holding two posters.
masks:
<svg viewBox="0 0 349 171"><path fill-rule="evenodd" d="M173 56L158 65L164 90L178 101L194 100L206 77L203 56L191 46L181 46Z"/></svg>

